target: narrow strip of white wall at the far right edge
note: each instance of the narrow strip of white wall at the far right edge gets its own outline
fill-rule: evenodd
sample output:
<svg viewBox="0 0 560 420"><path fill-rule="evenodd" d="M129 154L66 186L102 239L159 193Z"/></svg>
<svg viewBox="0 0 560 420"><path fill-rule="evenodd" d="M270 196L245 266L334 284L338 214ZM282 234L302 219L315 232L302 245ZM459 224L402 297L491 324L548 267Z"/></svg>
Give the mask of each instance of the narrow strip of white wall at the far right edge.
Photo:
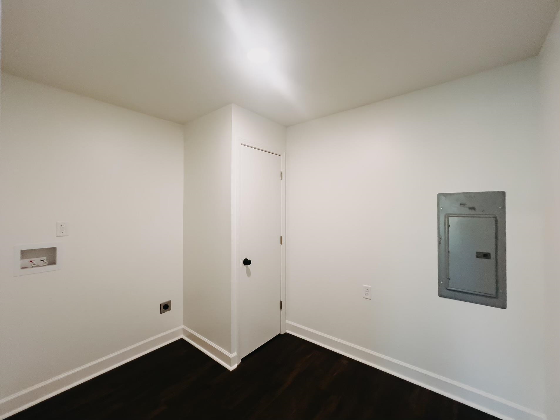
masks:
<svg viewBox="0 0 560 420"><path fill-rule="evenodd" d="M560 419L560 14L539 56L543 98L547 414Z"/></svg>

